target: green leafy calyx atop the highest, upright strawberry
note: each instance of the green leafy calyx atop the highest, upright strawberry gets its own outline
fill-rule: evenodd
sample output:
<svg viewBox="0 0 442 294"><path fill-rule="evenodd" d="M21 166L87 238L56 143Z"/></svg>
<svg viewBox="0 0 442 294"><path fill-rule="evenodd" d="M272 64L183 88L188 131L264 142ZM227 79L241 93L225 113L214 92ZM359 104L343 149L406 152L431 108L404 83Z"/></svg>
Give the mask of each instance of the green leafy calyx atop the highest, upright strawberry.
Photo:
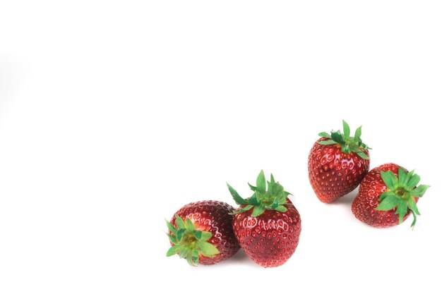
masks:
<svg viewBox="0 0 442 294"><path fill-rule="evenodd" d="M363 159L370 159L364 151L366 149L371 149L367 145L364 144L361 140L362 135L362 125L356 129L356 132L354 132L354 137L350 137L350 126L348 123L346 123L344 120L342 120L342 125L344 128L344 133L342 134L340 130L334 131L332 130L330 132L330 135L328 133L322 132L318 135L321 137L326 137L328 140L319 141L318 143L321 145L335 145L338 144L342 148L343 153L350 154L351 152L354 152L359 155L359 157Z"/></svg>

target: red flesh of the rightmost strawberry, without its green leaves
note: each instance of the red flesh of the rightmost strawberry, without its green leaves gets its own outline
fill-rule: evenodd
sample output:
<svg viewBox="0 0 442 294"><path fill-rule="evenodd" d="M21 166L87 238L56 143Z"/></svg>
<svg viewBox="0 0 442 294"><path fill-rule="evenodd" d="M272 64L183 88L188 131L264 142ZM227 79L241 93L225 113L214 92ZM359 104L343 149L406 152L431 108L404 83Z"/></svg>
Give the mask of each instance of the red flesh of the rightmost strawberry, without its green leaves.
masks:
<svg viewBox="0 0 442 294"><path fill-rule="evenodd" d="M377 228L387 228L399 224L399 216L395 214L396 209L388 211L376 210L381 194L388 190L381 178L381 171L393 171L398 176L398 164L383 164L367 173L359 186L359 192L352 203L352 212L359 221ZM417 198L414 198L417 202ZM410 210L405 214L405 219L410 216Z"/></svg>

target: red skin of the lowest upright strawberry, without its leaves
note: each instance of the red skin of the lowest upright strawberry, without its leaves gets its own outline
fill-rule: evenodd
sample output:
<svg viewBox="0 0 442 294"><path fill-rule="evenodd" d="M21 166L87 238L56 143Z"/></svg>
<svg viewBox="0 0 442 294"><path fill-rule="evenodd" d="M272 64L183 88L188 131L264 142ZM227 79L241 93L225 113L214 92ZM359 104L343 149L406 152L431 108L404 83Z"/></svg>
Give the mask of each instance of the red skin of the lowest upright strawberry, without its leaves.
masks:
<svg viewBox="0 0 442 294"><path fill-rule="evenodd" d="M292 202L287 203L287 212L266 210L253 217L250 209L234 216L233 230L239 245L261 267L285 264L297 248L301 217Z"/></svg>

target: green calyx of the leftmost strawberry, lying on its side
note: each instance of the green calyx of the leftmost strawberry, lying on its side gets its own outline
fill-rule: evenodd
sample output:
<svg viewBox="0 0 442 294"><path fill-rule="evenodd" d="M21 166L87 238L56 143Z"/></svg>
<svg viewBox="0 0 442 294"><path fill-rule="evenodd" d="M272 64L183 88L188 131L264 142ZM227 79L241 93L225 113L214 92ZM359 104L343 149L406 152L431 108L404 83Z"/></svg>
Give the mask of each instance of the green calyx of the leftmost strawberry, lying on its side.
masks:
<svg viewBox="0 0 442 294"><path fill-rule="evenodd" d="M190 219L184 221L178 214L175 214L175 219L177 228L166 220L167 228L169 228L170 231L167 235L173 244L173 246L167 250L167 257L177 254L181 258L187 259L190 265L196 266L199 262L200 255L214 257L220 253L217 247L207 242L207 240L212 238L212 233L196 230Z"/></svg>

